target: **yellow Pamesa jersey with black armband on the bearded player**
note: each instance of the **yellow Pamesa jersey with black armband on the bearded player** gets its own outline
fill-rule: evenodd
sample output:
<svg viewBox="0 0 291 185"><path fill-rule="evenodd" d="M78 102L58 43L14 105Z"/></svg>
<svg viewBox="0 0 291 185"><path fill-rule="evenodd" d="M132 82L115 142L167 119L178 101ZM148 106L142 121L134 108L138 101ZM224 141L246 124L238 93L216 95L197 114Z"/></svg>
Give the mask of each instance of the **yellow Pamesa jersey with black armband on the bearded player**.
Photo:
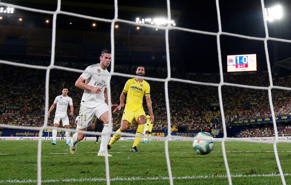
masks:
<svg viewBox="0 0 291 185"><path fill-rule="evenodd" d="M132 78L127 80L123 91L127 93L125 110L135 111L143 107L143 96L150 96L150 85L145 80L138 82Z"/></svg>

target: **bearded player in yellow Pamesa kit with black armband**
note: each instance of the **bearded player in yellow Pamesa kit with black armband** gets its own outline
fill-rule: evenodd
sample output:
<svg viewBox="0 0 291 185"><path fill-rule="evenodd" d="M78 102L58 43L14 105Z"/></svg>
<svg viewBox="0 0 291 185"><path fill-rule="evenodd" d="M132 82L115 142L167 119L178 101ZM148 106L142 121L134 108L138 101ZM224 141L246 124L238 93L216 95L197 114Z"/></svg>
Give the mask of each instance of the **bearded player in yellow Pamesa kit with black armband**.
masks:
<svg viewBox="0 0 291 185"><path fill-rule="evenodd" d="M132 121L135 119L139 123L136 134L142 135L146 121L145 112L143 110L143 96L145 96L152 123L154 123L154 116L152 114L152 100L150 99L150 85L145 80L139 78L139 76L145 74L145 69L143 66L138 66L135 72L138 77L127 80L120 95L119 110L121 107L124 107L124 99L125 96L127 97L123 116L121 118L121 126L116 132L125 132L127 128L131 127ZM117 133L114 134L107 149L109 150L121 136L122 135L118 135ZM133 146L130 149L131 152L139 152L136 147L140 141L141 137L135 138Z"/></svg>

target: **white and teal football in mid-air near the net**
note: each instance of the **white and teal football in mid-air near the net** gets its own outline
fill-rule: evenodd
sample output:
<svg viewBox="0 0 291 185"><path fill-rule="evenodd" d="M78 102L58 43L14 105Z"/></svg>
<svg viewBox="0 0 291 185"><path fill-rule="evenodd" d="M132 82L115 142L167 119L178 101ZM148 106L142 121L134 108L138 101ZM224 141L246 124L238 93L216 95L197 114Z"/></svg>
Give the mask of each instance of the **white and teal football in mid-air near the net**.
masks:
<svg viewBox="0 0 291 185"><path fill-rule="evenodd" d="M192 144L195 152L197 152L198 154L200 155L209 154L214 148L214 141L205 141L205 140L200 140L200 139L213 140L212 135L208 132L199 132L194 137L194 141Z"/></svg>

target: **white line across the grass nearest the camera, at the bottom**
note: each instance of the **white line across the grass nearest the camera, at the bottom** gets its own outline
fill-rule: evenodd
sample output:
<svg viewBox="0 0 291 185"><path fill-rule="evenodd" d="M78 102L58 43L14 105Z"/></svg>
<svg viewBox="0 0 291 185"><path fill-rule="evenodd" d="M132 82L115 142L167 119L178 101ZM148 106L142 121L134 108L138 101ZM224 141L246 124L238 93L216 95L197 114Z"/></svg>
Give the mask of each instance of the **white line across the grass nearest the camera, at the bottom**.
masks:
<svg viewBox="0 0 291 185"><path fill-rule="evenodd" d="M290 176L290 173L285 173L285 176ZM254 174L254 175L231 175L234 178L241 178L241 177L278 177L280 174L272 173L272 174ZM227 175L193 175L193 176L186 176L186 177L173 177L173 179L208 179L208 178L227 178ZM133 180L168 180L169 177L115 177L111 178L110 181L133 181ZM106 181L105 178L81 178L81 179L51 179L51 180L42 180L41 182L88 182L88 181ZM0 183L36 183L37 180L1 180Z"/></svg>

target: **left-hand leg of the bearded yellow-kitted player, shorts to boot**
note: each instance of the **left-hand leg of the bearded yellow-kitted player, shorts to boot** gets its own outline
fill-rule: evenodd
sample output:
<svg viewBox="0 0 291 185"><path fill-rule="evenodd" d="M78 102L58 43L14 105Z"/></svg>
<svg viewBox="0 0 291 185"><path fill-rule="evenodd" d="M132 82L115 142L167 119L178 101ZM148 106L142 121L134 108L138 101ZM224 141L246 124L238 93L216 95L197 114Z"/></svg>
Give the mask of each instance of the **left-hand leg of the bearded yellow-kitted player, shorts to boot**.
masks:
<svg viewBox="0 0 291 185"><path fill-rule="evenodd" d="M108 150L122 136L122 135L119 135L118 133L125 132L127 130L127 128L131 126L133 119L134 119L134 113L132 111L128 111L128 110L123 111L120 128L118 130L116 130L116 133L113 135L110 143L108 144L108 147L107 147Z"/></svg>

